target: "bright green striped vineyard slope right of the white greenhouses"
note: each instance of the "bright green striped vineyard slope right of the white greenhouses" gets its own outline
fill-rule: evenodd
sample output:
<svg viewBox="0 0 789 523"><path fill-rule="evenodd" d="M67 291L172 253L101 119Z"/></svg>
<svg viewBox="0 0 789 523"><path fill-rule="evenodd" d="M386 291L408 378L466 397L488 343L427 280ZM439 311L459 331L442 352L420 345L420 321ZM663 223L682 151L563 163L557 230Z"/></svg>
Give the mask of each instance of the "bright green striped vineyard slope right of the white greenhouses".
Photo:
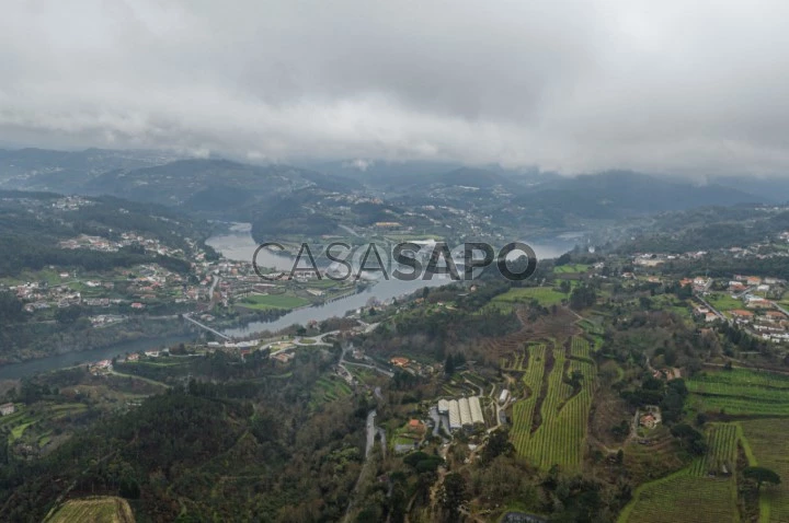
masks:
<svg viewBox="0 0 789 523"><path fill-rule="evenodd" d="M583 458L596 368L590 359L588 344L582 338L572 338L569 360L564 349L553 347L550 350L553 367L547 376L547 390L539 412L536 411L539 403L537 397L515 404L513 443L518 454L540 468L550 468L557 464L565 469L578 469ZM575 395L573 387L564 381L565 363L568 375L573 371L580 371L583 375L581 390ZM524 381L533 391L539 391L544 377L539 370L534 370L529 364ZM536 419L539 419L539 426L531 432Z"/></svg>

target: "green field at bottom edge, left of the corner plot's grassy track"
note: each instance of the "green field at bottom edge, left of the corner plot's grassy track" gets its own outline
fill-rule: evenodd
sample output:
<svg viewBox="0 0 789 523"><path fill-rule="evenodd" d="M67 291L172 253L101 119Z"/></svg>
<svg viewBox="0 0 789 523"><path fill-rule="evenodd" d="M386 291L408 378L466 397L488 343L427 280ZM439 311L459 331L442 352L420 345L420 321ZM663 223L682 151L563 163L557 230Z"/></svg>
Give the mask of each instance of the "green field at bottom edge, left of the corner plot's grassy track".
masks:
<svg viewBox="0 0 789 523"><path fill-rule="evenodd" d="M719 523L740 521L734 478L712 479L691 475L689 468L651 481L636 490L634 500L618 522Z"/></svg>

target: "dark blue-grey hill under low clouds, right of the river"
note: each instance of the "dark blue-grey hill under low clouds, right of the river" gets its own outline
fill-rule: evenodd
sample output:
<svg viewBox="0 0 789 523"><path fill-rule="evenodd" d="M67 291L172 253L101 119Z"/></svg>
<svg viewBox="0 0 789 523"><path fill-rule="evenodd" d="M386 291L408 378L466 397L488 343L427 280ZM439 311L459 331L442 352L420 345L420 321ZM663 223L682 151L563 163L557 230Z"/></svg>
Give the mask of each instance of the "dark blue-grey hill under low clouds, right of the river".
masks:
<svg viewBox="0 0 789 523"><path fill-rule="evenodd" d="M582 218L614 219L764 200L763 197L721 185L698 186L614 171L548 182L516 197L514 204L526 209L553 209Z"/></svg>

